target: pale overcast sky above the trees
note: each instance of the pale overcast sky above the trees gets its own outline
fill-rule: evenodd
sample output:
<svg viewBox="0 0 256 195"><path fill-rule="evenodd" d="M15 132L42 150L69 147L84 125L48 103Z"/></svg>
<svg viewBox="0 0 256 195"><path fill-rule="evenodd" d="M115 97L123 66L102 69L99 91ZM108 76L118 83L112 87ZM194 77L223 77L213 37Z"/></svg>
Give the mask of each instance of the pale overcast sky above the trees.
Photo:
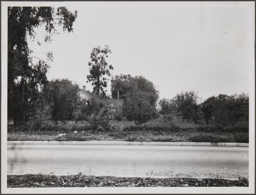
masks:
<svg viewBox="0 0 256 195"><path fill-rule="evenodd" d="M87 81L94 47L109 46L113 75L142 75L160 98L194 90L203 99L220 93L249 93L249 51L253 41L246 3L70 3L78 11L74 32L60 32L48 44L30 41L33 56L52 51L48 79ZM250 6L251 7L251 6ZM38 29L36 40L44 36ZM108 88L110 93L110 86Z"/></svg>

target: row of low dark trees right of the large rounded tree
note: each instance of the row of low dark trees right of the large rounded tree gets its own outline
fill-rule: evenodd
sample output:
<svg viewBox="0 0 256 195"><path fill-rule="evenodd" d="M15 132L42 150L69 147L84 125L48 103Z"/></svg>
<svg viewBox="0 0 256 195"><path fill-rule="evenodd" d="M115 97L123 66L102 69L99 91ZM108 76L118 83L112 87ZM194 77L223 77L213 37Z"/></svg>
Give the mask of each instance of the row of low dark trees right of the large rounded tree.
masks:
<svg viewBox="0 0 256 195"><path fill-rule="evenodd" d="M220 125L232 125L238 122L249 121L249 96L248 94L235 94L211 96L202 103L194 91L182 92L173 99L159 101L162 115L174 115L183 120L204 120Z"/></svg>

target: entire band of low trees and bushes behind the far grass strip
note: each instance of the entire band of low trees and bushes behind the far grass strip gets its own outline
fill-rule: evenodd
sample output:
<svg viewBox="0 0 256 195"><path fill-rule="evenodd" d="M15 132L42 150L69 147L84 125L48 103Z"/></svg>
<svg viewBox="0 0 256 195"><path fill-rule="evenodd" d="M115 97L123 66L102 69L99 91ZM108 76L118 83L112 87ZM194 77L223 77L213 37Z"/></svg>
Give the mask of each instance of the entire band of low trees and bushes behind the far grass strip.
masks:
<svg viewBox="0 0 256 195"><path fill-rule="evenodd" d="M109 120L108 115L114 115L115 120L141 124L160 115L170 115L170 118L193 120L196 124L226 126L241 123L248 126L249 96L245 93L230 96L220 94L199 102L196 92L181 92L172 99L161 99L157 109L158 91L150 80L143 76L120 75L112 79L112 98L117 99L114 89L122 89L119 98L123 100L123 105L110 113L100 101L102 97L92 94L94 98L90 101L82 100L78 96L78 89L78 85L68 79L49 81L38 92L34 103L26 107L25 114L8 113L8 119L13 119L15 124L31 120L36 120L36 123L90 119L105 121ZM19 109L17 105L16 111Z"/></svg>

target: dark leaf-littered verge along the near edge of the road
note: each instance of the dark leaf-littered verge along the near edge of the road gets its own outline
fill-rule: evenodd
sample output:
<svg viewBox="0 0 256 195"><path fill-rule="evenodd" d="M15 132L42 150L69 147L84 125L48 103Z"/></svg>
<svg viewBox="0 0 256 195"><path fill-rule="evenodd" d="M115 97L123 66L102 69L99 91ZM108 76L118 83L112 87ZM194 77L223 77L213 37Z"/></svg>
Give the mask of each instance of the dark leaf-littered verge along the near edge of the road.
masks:
<svg viewBox="0 0 256 195"><path fill-rule="evenodd" d="M233 187L248 186L246 178L238 180L196 178L119 178L85 175L8 175L7 187Z"/></svg>

